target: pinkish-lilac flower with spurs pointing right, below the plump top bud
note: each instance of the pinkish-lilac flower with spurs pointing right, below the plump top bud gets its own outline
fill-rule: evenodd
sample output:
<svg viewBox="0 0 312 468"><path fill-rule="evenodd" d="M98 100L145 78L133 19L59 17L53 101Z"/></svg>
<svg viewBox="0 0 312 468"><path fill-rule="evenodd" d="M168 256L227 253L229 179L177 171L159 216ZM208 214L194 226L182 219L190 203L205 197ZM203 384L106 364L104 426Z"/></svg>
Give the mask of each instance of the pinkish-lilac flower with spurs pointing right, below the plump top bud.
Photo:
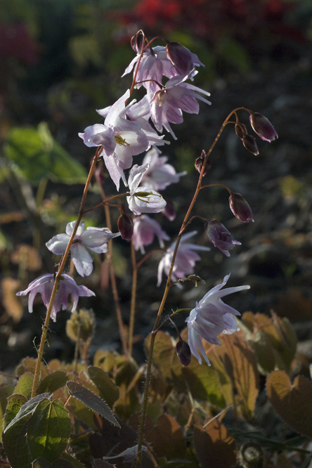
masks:
<svg viewBox="0 0 312 468"><path fill-rule="evenodd" d="M211 104L209 100L198 94L203 93L210 96L210 93L193 84L185 83L186 79L192 76L193 71L186 76L178 75L169 79L163 89L155 91L150 100L150 118L157 131L162 131L164 126L175 140L176 136L170 124L181 124L183 122L182 111L188 112L188 114L198 114L200 105L197 103L197 99Z"/></svg>

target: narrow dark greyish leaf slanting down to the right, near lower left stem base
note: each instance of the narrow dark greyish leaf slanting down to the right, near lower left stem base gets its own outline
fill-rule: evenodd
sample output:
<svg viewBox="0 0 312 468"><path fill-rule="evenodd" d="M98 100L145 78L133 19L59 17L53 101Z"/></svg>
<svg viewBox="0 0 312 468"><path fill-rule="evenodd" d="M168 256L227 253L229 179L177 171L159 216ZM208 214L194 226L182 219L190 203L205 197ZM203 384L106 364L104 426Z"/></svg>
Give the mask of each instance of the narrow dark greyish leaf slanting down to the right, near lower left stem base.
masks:
<svg viewBox="0 0 312 468"><path fill-rule="evenodd" d="M84 405L91 408L91 410L98 412L100 416L105 417L106 420L110 421L115 426L120 427L119 422L115 419L115 416L112 413L112 410L110 410L102 398L93 394L92 391L86 389L77 382L67 382L67 388L71 396L82 401Z"/></svg>

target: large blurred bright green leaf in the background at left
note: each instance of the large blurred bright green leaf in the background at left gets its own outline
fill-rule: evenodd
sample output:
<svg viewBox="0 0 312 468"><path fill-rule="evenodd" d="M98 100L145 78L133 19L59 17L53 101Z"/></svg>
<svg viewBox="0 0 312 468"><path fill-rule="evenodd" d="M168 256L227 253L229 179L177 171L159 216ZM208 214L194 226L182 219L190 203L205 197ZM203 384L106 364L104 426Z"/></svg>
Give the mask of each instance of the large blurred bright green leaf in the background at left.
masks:
<svg viewBox="0 0 312 468"><path fill-rule="evenodd" d="M30 183L41 178L53 182L84 183L86 171L51 136L46 122L37 129L15 127L8 135L4 152Z"/></svg>

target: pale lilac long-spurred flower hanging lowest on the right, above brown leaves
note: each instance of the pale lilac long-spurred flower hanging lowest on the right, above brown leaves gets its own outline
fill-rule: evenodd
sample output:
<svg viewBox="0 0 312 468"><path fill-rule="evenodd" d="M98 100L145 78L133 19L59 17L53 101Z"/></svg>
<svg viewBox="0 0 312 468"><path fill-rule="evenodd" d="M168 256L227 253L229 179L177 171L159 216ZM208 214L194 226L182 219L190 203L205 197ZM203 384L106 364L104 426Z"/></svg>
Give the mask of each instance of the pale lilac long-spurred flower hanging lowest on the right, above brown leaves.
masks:
<svg viewBox="0 0 312 468"><path fill-rule="evenodd" d="M202 338L212 344L221 344L217 338L220 333L232 334L238 330L238 324L233 316L240 316L235 308L224 304L221 297L242 290L249 290L250 286L228 287L221 290L226 285L230 275L226 275L221 284L212 288L204 297L196 303L195 308L190 311L190 316L186 318L188 323L188 344L190 351L202 363L202 354L204 360L210 365L207 354L202 346ZM200 353L198 352L200 351Z"/></svg>

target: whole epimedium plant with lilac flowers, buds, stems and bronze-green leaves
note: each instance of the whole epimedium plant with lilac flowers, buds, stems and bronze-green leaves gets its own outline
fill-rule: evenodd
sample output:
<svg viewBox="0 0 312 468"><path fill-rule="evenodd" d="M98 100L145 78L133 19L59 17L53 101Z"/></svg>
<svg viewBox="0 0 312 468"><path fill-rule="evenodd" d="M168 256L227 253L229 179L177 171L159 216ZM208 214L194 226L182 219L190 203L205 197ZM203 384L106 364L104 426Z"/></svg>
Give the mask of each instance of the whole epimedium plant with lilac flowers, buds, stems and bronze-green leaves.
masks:
<svg viewBox="0 0 312 468"><path fill-rule="evenodd" d="M167 45L152 46L155 39L161 39ZM195 161L199 178L193 200L176 240L166 248L164 242L170 240L169 235L150 214L163 212L169 220L174 219L173 205L164 200L160 192L169 184L177 183L184 173L176 173L174 167L167 163L167 157L160 157L158 147L169 141L164 140L164 136L157 131L165 129L176 139L171 125L183 122L183 112L197 114L197 100L210 103L201 96L209 96L207 91L188 82L193 82L196 67L203 66L199 58L181 44L164 38L155 39L148 41L143 31L131 39L136 57L124 73L134 70L131 89L110 108L98 110L105 119L104 124L88 126L79 134L86 146L96 148L96 153L77 221L68 223L65 233L59 233L46 244L53 254L62 256L60 263L53 273L42 275L32 281L26 290L18 292L20 296L29 294L30 312L34 297L37 293L41 294L46 306L46 318L37 360L22 360L11 383L4 382L0 386L5 451L1 457L5 467L103 468L124 464L130 466L129 463L137 467L158 467L174 462L177 466L188 463L191 467L197 467L200 463L202 467L214 464L216 467L230 468L235 465L238 455L233 434L243 440L251 436L249 433L247 436L242 432L239 434L238 431L230 433L221 419L234 407L236 417L252 421L260 373L268 375L271 372L268 398L278 415L294 431L306 437L312 435L311 424L301 424L296 417L287 414L287 405L282 400L285 385L279 386L280 381L286 382L292 398L298 398L302 392L312 393L311 384L302 377L296 381L297 394L294 395L286 373L290 371L296 351L296 337L288 320L275 315L267 318L261 314L254 316L245 313L239 321L235 316L240 316L240 313L221 299L249 289L248 285L224 288L230 277L226 275L220 284L204 294L193 309L177 308L162 320L171 287L181 287L185 281L193 281L195 285L197 282L204 283L195 275L195 263L200 261L198 252L207 252L209 247L188 242L196 234L196 231L188 230L194 219L203 222L209 241L223 254L229 256L230 249L240 245L216 219L191 215L200 190L222 186L230 194L229 204L233 214L244 223L253 221L252 210L242 195L223 184L205 185L202 182L210 168L209 157L223 129L233 124L245 148L254 155L259 153L256 140L248 134L247 126L240 122L238 112L249 112L252 129L264 141L274 141L278 135L268 119L259 112L246 108L230 112L211 148L202 150ZM138 88L145 90L145 96L138 102L129 102ZM134 157L144 151L148 152L143 164L133 165ZM120 180L126 192L111 196L105 194L97 171L100 159L108 169L117 192ZM124 171L127 169L130 170L126 178ZM85 209L93 176L98 181L103 202ZM132 216L126 212L125 200ZM104 207L108 227L86 228L84 215L98 207ZM120 213L117 233L112 232L111 208L118 209ZM129 333L126 336L124 331L114 268L110 264L123 353L98 350L92 365L88 366L95 321L91 311L77 311L77 304L79 297L90 297L94 293L84 285L77 285L71 275L64 273L64 267L71 254L77 273L82 277L91 275L93 259L90 251L95 254L109 253L111 256L112 242L118 236L131 242L133 282ZM164 252L157 282L160 286L164 274L167 281L154 327L145 339L148 362L138 365L131 357L136 282L139 266L152 253L145 254L145 247L152 243L155 236ZM138 250L145 256L137 264ZM76 342L74 362L65 364L52 360L44 364L49 322L51 318L56 320L61 308L67 308L70 295L74 299L73 313L67 321L66 330L70 339ZM176 313L184 312L188 313L187 327L180 332L174 318ZM167 322L176 327L176 341L161 330ZM202 363L202 358L205 363ZM275 441L274 445L274 441L268 442L259 436L253 438L252 443L252 449L258 453L260 460L256 466L262 466L260 463L266 448L297 450L292 443L280 441L278 445L278 441ZM249 466L246 464L250 458L249 448L248 444L242 443L240 462L244 467ZM301 451L308 452L304 448Z"/></svg>

